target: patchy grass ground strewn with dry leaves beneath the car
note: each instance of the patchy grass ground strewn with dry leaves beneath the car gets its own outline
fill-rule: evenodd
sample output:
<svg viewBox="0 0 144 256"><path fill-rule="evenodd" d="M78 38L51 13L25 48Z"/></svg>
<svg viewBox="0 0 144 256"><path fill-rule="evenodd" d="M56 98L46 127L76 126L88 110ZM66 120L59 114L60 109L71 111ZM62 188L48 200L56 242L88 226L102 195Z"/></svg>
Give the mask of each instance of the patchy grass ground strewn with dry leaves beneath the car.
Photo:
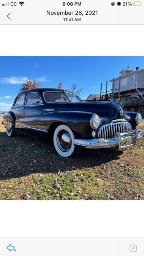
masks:
<svg viewBox="0 0 144 256"><path fill-rule="evenodd" d="M79 158L62 158L52 143L8 138L1 121L0 200L144 199L144 138L122 151L83 150Z"/></svg>

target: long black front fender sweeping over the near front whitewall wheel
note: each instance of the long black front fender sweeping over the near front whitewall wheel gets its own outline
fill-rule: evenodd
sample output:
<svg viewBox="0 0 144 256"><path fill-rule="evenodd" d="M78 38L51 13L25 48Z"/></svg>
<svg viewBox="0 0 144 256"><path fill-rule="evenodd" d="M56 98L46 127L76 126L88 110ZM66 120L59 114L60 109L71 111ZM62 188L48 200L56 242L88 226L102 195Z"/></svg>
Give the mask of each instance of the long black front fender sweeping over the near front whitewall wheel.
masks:
<svg viewBox="0 0 144 256"><path fill-rule="evenodd" d="M54 124L66 124L76 137L91 138L93 129L90 126L90 118L94 113L82 111L50 112L38 116L38 129L50 130Z"/></svg>

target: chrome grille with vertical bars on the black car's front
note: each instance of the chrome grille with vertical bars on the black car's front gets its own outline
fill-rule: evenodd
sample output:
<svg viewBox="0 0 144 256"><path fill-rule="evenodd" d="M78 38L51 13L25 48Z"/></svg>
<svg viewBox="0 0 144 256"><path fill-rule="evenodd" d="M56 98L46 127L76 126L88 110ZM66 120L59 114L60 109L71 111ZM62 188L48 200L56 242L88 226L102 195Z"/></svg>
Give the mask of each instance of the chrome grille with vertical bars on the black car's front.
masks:
<svg viewBox="0 0 144 256"><path fill-rule="evenodd" d="M114 120L110 124L105 124L100 127L98 138L110 139L114 138L116 132L132 132L132 126L126 120Z"/></svg>

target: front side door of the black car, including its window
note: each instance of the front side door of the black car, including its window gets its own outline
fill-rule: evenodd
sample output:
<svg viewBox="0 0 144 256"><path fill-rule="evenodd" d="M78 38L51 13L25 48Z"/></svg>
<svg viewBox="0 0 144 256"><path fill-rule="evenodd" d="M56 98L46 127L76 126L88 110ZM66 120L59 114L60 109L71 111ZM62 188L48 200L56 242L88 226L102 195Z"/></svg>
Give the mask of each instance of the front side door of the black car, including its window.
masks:
<svg viewBox="0 0 144 256"><path fill-rule="evenodd" d="M38 116L42 113L43 102L38 92L26 94L25 104L22 106L20 126L21 132L31 136L38 136Z"/></svg>

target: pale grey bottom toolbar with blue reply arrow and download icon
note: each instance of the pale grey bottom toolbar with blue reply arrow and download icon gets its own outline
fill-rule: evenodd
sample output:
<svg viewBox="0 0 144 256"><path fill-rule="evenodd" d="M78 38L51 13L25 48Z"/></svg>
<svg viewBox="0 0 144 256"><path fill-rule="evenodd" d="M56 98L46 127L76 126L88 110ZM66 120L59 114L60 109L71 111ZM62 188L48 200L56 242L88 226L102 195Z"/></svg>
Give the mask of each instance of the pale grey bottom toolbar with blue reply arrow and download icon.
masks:
<svg viewBox="0 0 144 256"><path fill-rule="evenodd" d="M12 244L16 252L6 248ZM134 244L134 247L133 247ZM50 238L0 238L0 255L26 256L133 256L130 246L136 250L136 256L143 256L144 238L92 238L92 237L50 237ZM10 247L9 247L10 248ZM134 254L135 256L135 254Z"/></svg>

